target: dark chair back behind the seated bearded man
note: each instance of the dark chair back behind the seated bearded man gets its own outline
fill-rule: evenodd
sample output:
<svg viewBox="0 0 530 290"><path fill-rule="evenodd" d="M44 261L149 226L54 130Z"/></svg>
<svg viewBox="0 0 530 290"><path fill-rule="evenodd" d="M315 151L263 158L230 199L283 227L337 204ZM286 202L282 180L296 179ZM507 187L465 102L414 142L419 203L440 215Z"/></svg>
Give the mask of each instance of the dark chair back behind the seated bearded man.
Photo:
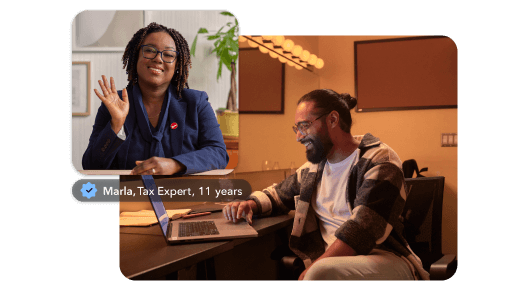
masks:
<svg viewBox="0 0 530 290"><path fill-rule="evenodd" d="M403 209L403 236L425 270L442 254L442 206L445 177L405 178L408 189Z"/></svg>

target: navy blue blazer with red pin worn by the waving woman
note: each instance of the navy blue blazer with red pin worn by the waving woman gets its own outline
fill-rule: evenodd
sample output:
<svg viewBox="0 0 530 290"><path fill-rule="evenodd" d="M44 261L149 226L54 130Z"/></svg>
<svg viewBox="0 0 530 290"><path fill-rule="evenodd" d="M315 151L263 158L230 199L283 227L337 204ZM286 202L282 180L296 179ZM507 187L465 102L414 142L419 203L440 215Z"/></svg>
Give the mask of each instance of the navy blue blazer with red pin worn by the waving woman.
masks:
<svg viewBox="0 0 530 290"><path fill-rule="evenodd" d="M121 91L118 91L118 95L122 97ZM141 92L138 85L127 88L127 95L129 113L124 124L126 139L121 140L112 130L110 113L102 103L88 148L83 154L83 169L132 169L136 166L135 161L152 157L149 150L151 137L150 134L146 135L149 132L147 126L151 124L139 101ZM229 157L208 95L202 91L183 89L181 96L179 98L173 85L169 86L163 106L165 108L169 103L161 140L164 157L173 158L186 166L185 172L179 173L224 169ZM163 120L164 112L163 109L159 123ZM153 129L151 126L150 130Z"/></svg>

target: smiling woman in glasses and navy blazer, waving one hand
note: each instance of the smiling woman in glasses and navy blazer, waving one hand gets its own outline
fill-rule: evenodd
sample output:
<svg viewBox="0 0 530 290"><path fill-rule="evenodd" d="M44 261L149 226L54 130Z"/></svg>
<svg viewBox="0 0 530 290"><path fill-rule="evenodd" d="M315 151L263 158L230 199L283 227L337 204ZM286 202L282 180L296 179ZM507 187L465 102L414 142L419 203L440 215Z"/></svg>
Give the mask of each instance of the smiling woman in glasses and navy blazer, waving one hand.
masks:
<svg viewBox="0 0 530 290"><path fill-rule="evenodd" d="M83 154L83 169L132 169L131 174L190 174L224 169L228 154L205 92L189 89L188 43L151 23L127 44L129 84L98 80L102 104ZM186 88L185 88L186 87Z"/></svg>

